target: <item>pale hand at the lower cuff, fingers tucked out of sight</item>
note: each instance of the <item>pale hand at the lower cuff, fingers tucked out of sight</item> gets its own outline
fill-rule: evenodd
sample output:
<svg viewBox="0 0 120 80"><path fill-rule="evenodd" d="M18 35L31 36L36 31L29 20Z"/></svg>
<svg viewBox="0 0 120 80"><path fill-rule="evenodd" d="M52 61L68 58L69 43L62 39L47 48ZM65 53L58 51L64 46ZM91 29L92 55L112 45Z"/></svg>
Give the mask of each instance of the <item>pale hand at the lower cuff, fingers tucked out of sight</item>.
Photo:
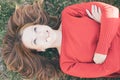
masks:
<svg viewBox="0 0 120 80"><path fill-rule="evenodd" d="M96 64L102 64L102 63L105 61L106 56L107 56L107 55L103 55L103 54L100 54L100 53L95 53L95 54L94 54L93 61L94 61Z"/></svg>

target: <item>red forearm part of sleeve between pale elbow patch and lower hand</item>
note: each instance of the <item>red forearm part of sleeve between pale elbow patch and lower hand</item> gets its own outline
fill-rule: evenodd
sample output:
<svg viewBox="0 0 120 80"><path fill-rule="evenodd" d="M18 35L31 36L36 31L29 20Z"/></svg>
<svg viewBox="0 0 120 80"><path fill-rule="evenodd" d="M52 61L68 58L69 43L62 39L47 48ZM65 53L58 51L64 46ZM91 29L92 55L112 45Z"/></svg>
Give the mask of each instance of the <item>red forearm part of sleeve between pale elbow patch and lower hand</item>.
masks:
<svg viewBox="0 0 120 80"><path fill-rule="evenodd" d="M119 19L104 18L101 22L99 40L96 47L96 53L107 54L111 47L111 42L114 39L119 27Z"/></svg>

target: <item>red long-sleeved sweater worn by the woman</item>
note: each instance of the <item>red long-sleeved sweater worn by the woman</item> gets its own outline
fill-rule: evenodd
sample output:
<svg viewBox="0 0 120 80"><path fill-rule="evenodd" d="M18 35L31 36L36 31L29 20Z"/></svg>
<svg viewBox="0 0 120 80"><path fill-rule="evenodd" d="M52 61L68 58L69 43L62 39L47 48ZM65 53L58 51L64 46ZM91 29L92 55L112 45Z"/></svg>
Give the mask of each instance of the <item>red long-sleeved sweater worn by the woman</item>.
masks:
<svg viewBox="0 0 120 80"><path fill-rule="evenodd" d="M85 10L90 10L93 4L102 10L101 24L87 16ZM89 2L71 5L62 11L60 66L64 73L84 78L119 73L119 19L108 18L107 9L105 4ZM95 52L108 55L103 64L93 62Z"/></svg>

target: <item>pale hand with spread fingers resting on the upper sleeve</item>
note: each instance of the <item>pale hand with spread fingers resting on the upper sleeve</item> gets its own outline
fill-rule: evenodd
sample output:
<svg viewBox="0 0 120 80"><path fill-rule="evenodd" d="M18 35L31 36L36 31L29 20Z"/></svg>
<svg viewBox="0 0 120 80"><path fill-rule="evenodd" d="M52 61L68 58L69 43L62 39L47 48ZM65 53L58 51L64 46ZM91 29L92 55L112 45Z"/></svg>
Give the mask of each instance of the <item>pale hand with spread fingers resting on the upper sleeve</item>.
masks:
<svg viewBox="0 0 120 80"><path fill-rule="evenodd" d="M92 12L90 13L90 11L88 9L86 9L86 13L93 20L95 20L99 23L101 22L101 9L100 9L100 7L97 7L96 5L92 5Z"/></svg>

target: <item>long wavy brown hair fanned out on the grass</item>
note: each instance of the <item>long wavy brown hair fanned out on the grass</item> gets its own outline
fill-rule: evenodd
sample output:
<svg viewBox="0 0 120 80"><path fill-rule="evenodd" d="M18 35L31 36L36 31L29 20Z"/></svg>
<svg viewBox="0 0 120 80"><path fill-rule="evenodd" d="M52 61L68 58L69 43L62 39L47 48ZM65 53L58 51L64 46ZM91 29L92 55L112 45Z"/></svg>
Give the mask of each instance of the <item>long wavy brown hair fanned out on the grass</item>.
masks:
<svg viewBox="0 0 120 80"><path fill-rule="evenodd" d="M19 30L27 23L49 25L51 20L60 23L43 10L42 3L43 1L36 1L32 5L24 5L15 10L8 21L2 56L9 70L16 71L27 78L50 80L59 77L59 56L48 59L39 55L42 54L41 52L27 49L19 34ZM58 25L53 29L58 29Z"/></svg>

